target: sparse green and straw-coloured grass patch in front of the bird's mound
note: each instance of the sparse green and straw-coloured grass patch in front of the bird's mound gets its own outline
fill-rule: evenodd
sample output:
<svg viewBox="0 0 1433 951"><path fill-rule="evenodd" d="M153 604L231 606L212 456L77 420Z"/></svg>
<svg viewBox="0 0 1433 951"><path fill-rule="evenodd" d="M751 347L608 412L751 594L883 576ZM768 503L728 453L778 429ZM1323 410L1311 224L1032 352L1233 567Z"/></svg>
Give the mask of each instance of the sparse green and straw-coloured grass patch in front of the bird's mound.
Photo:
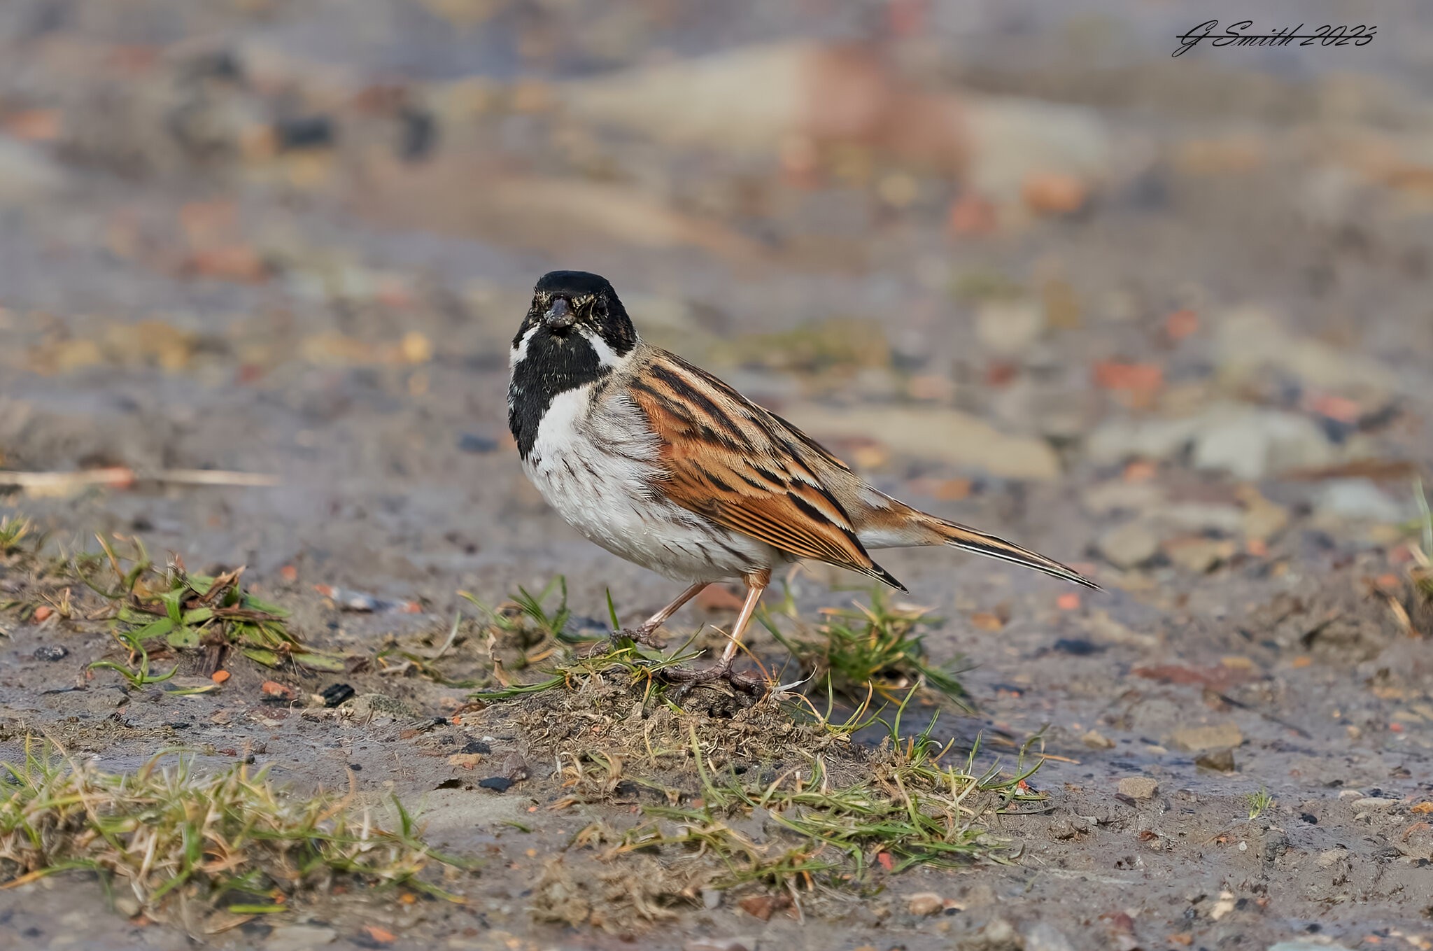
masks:
<svg viewBox="0 0 1433 951"><path fill-rule="evenodd" d="M1037 765L1013 773L996 768L977 772L977 750L963 762L944 763L952 748L931 739L934 719L916 736L900 735L913 696L914 690L907 693L890 722L880 720L890 733L857 769L850 753L830 749L759 779L754 771L731 769L731 763L719 771L709 759L709 738L688 725L686 762L695 763L699 793L684 803L681 793L666 791L666 803L641 806L636 825L615 829L599 822L580 832L575 845L592 846L600 862L615 866L645 864L668 882L661 891L671 901L695 901L692 882L719 889L765 888L784 895L797 914L811 894L868 887L876 869L1006 861L1007 849L986 834L980 819L1015 802L1039 799L1025 782ZM866 719L857 728L873 722ZM589 758L599 772L585 771L580 758L565 771L583 793L570 802L602 798L622 782L622 763L615 756ZM681 882L688 887L678 887ZM562 891L556 879L546 885Z"/></svg>

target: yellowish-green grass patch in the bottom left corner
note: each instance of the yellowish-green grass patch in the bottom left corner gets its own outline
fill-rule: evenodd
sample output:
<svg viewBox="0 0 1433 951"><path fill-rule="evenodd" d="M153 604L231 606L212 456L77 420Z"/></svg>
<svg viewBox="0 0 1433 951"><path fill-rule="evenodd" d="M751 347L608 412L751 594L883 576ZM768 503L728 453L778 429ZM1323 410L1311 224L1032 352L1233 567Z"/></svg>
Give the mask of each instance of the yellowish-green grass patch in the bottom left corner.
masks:
<svg viewBox="0 0 1433 951"><path fill-rule="evenodd" d="M420 875L466 865L433 852L397 799L384 818L351 795L278 789L265 769L202 776L166 756L107 773L27 743L24 762L0 763L0 888L82 869L155 919L191 921L201 902L222 927L342 877L457 901Z"/></svg>

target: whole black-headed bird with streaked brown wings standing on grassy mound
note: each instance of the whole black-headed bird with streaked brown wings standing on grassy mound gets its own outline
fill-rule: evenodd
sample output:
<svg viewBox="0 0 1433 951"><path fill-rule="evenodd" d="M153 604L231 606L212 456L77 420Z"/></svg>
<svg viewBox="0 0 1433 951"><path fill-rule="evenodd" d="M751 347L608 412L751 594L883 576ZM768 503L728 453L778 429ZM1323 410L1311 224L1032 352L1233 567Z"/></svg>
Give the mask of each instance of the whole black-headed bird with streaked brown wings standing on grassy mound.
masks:
<svg viewBox="0 0 1433 951"><path fill-rule="evenodd" d="M547 504L612 554L686 584L615 637L661 647L656 630L708 584L745 586L719 662L669 667L674 682L725 679L761 692L732 660L772 569L802 559L906 592L870 553L952 546L1099 589L1043 554L877 490L775 412L646 344L600 275L552 271L537 281L510 371L509 428Z"/></svg>

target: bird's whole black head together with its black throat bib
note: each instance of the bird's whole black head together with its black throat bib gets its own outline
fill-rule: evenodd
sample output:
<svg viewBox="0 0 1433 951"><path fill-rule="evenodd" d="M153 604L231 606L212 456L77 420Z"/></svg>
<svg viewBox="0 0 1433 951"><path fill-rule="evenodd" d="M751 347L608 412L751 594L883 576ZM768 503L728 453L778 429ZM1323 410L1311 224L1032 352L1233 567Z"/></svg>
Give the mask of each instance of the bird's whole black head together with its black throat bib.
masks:
<svg viewBox="0 0 1433 951"><path fill-rule="evenodd" d="M636 344L626 308L606 278L585 271L545 274L513 337L507 424L522 457L532 451L559 394L605 378Z"/></svg>

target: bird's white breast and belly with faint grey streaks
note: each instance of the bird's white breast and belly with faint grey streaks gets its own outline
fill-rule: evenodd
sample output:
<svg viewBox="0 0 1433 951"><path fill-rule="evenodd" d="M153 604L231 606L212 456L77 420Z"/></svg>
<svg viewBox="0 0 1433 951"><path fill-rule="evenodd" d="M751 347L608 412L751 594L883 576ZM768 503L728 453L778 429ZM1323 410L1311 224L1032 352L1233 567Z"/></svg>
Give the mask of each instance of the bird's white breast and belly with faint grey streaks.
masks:
<svg viewBox="0 0 1433 951"><path fill-rule="evenodd" d="M613 405L616 404L616 405ZM557 514L608 551L668 577L718 581L771 567L771 546L712 524L652 491L656 444L631 404L553 398L523 468Z"/></svg>

